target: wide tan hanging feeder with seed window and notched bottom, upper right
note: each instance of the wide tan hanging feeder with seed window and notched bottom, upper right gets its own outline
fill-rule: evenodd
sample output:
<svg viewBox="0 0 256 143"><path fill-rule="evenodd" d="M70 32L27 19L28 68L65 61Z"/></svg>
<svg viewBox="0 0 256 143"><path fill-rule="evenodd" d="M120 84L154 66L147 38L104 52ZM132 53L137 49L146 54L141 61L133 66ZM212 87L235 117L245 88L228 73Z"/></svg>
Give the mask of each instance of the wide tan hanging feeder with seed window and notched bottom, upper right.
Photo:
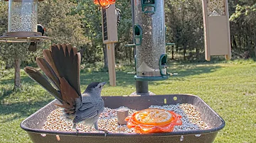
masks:
<svg viewBox="0 0 256 143"><path fill-rule="evenodd" d="M231 58L228 0L202 0L206 60L211 55Z"/></svg>

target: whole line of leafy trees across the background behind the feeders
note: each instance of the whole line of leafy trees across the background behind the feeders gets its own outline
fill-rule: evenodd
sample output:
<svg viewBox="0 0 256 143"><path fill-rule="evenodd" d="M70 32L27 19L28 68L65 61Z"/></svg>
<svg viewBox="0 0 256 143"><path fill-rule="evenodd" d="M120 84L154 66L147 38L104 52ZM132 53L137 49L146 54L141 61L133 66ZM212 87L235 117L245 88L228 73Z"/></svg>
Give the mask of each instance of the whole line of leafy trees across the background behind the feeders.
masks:
<svg viewBox="0 0 256 143"><path fill-rule="evenodd" d="M230 37L233 58L256 56L256 0L228 1L230 13ZM119 0L116 7L122 11L118 27L119 42L115 45L117 64L134 64L133 49L124 47L132 43L131 1ZM175 42L168 50L178 61L204 61L203 13L201 0L166 0L166 42ZM0 1L0 33L7 32L8 2ZM66 42L85 48L82 63L85 66L106 59L102 44L102 20L99 6L88 0L45 0L38 6L38 23L46 27L50 42L43 42L36 52L28 52L27 43L22 45L0 43L1 68L35 64L35 57L53 43ZM175 57L174 57L175 55ZM20 61L20 62L19 62ZM16 64L14 64L16 63ZM88 65L87 65L88 64ZM0 72L1 75L1 72ZM19 87L18 81L16 86Z"/></svg>

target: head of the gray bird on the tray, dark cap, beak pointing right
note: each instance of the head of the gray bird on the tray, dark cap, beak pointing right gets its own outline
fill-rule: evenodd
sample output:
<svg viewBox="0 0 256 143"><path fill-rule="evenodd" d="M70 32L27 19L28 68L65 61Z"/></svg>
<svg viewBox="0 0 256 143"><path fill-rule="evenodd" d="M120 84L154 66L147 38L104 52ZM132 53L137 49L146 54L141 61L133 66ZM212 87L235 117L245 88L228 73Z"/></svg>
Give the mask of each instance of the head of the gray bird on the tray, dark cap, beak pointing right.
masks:
<svg viewBox="0 0 256 143"><path fill-rule="evenodd" d="M89 93L92 96L100 96L103 86L107 84L107 82L92 82L87 86L84 93Z"/></svg>

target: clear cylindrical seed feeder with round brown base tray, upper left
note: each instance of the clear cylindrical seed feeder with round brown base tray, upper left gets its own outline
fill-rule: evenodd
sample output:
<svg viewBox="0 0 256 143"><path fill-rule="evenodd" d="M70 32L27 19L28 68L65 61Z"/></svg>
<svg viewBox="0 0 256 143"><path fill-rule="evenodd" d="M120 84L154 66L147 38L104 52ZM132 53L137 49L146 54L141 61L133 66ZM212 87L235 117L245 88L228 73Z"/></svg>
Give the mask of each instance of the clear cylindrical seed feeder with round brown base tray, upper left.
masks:
<svg viewBox="0 0 256 143"><path fill-rule="evenodd" d="M50 40L37 32L38 1L43 0L5 0L9 1L8 32L0 37L0 42L41 42Z"/></svg>

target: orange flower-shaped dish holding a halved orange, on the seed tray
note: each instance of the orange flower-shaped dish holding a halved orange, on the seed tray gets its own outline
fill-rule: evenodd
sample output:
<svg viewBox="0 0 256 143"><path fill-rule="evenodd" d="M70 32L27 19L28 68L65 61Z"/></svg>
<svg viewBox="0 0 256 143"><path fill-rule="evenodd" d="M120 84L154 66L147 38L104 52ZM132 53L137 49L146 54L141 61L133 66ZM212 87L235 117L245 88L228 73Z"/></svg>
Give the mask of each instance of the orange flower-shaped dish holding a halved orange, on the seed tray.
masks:
<svg viewBox="0 0 256 143"><path fill-rule="evenodd" d="M125 119L127 127L141 134L172 132L176 125L181 125L181 115L173 111L149 108L139 110Z"/></svg>

